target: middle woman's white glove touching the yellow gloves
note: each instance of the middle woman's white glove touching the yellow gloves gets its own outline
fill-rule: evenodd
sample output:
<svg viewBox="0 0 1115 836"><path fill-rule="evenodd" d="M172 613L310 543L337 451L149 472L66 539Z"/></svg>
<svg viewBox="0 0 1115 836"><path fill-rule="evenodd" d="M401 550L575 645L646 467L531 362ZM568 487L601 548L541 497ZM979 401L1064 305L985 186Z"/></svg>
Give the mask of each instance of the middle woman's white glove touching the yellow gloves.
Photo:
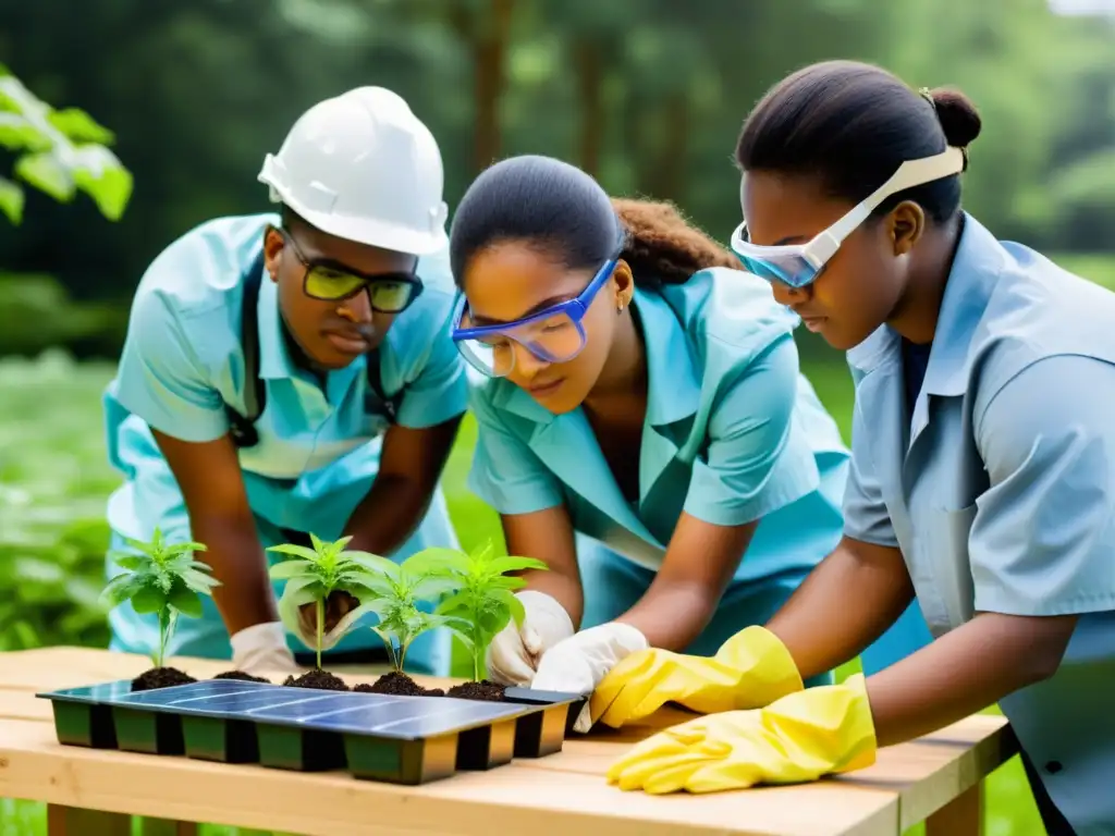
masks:
<svg viewBox="0 0 1115 836"><path fill-rule="evenodd" d="M589 696L627 655L649 647L647 636L630 624L610 621L589 628L546 651L531 688ZM573 730L583 735L590 728L592 718L585 701Z"/></svg>

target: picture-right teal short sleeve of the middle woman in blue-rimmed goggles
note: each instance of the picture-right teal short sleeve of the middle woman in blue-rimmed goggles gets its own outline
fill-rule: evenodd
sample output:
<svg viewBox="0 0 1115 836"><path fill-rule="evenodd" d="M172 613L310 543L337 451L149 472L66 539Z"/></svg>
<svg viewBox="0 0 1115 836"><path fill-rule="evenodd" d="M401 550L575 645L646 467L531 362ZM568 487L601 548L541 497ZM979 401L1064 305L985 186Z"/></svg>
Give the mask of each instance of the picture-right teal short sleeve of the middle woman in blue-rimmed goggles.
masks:
<svg viewBox="0 0 1115 836"><path fill-rule="evenodd" d="M797 347L785 336L757 357L714 409L708 449L694 461L685 511L714 525L744 525L820 484L794 428Z"/></svg>

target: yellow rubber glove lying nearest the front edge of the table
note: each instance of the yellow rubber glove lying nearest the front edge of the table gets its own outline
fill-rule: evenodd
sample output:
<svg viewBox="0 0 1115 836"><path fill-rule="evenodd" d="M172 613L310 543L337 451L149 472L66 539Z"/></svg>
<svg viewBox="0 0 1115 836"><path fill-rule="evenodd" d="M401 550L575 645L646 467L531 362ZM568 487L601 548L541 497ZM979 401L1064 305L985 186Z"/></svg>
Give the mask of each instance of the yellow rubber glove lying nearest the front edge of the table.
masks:
<svg viewBox="0 0 1115 836"><path fill-rule="evenodd" d="M709 715L660 731L608 770L620 789L718 793L797 784L875 762L875 727L863 674L763 709Z"/></svg>

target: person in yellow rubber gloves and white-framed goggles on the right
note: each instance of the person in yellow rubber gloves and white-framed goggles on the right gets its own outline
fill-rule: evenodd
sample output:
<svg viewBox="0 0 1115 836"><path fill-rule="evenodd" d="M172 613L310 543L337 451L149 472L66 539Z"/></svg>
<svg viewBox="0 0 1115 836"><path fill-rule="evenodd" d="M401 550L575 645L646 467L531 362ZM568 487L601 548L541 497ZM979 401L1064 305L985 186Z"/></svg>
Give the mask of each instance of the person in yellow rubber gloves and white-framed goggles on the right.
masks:
<svg viewBox="0 0 1115 836"><path fill-rule="evenodd" d="M1115 834L1115 294L961 210L979 130L961 94L847 61L748 118L733 249L855 383L844 537L767 622L769 658L828 670L914 592L934 639L865 681L661 732L612 766L620 787L820 777L998 703L1046 832ZM595 711L622 725L671 688L699 703L712 669L658 684L689 664L632 654Z"/></svg>

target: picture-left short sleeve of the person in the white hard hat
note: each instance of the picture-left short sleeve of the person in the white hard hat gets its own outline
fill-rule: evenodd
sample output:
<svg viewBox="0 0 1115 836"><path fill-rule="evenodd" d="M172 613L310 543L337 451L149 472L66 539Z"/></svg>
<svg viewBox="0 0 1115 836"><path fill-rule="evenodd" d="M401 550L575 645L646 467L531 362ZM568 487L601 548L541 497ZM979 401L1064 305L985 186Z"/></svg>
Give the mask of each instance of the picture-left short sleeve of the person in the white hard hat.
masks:
<svg viewBox="0 0 1115 836"><path fill-rule="evenodd" d="M229 429L221 393L166 298L140 285L116 372L114 397L153 429L183 441L212 441Z"/></svg>

